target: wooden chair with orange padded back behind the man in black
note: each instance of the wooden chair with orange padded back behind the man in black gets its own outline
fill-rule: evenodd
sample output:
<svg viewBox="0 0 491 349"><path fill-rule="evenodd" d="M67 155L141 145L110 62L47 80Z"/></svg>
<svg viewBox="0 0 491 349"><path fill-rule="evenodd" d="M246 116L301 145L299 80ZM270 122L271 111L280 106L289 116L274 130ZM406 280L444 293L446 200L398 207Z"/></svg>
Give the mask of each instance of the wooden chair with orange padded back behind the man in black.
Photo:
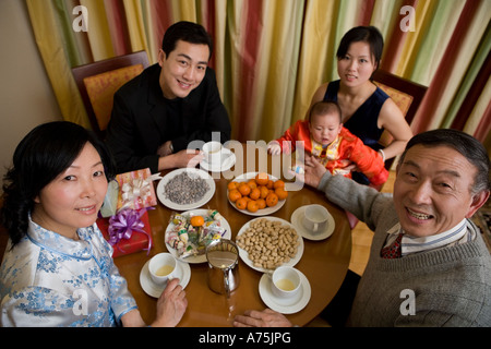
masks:
<svg viewBox="0 0 491 349"><path fill-rule="evenodd" d="M72 68L91 125L100 137L111 117L115 93L147 67L146 51L137 51Z"/></svg>

